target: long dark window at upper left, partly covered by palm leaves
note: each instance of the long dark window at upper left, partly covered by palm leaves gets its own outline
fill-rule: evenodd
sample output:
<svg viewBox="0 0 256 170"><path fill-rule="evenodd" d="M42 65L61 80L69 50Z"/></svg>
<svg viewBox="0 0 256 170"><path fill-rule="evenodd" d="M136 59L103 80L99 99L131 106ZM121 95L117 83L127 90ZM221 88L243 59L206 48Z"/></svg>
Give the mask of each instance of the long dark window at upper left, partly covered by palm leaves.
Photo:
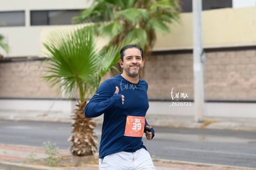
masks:
<svg viewBox="0 0 256 170"><path fill-rule="evenodd" d="M80 10L30 11L31 25L70 25Z"/></svg>

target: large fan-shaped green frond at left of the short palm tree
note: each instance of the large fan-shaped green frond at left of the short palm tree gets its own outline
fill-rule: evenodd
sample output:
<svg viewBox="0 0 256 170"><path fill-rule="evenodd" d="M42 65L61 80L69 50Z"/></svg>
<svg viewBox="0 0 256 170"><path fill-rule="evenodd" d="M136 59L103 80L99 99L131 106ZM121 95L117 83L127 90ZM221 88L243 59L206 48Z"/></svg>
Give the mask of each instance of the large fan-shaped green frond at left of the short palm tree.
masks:
<svg viewBox="0 0 256 170"><path fill-rule="evenodd" d="M48 50L46 56L49 59L46 81L51 86L59 85L58 91L65 90L68 96L74 95L77 89L86 91L79 87L79 83L92 82L99 62L92 29L54 31L43 45Z"/></svg>

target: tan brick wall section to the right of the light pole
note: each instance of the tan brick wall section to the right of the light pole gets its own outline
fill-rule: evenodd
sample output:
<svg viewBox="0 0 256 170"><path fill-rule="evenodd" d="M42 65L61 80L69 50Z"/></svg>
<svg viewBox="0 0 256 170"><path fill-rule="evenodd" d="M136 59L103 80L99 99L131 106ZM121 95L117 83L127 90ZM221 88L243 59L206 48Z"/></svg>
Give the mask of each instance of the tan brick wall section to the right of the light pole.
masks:
<svg viewBox="0 0 256 170"><path fill-rule="evenodd" d="M256 99L256 49L207 53L206 98Z"/></svg>

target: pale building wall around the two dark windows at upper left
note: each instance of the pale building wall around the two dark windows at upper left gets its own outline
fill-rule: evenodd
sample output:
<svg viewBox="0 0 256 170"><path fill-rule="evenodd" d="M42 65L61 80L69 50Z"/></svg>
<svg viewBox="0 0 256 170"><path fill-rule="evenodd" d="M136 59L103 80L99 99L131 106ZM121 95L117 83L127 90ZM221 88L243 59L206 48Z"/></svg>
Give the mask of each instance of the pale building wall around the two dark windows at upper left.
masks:
<svg viewBox="0 0 256 170"><path fill-rule="evenodd" d="M0 27L6 43L10 47L7 54L0 48L0 54L6 57L40 56L41 31L54 28L53 25L30 26L30 11L33 10L59 10L59 9L85 9L91 6L91 0L0 0L0 11L25 11L25 26ZM2 5L4 4L4 5ZM51 4L51 5L49 5ZM69 25L70 26L70 25Z"/></svg>

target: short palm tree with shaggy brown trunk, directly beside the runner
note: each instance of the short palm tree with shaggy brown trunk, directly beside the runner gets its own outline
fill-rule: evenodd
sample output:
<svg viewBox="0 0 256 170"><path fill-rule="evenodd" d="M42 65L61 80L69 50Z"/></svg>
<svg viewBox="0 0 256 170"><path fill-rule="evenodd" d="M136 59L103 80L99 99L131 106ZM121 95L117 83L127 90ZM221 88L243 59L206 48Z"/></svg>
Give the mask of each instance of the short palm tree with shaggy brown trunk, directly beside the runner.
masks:
<svg viewBox="0 0 256 170"><path fill-rule="evenodd" d="M85 117L86 99L98 88L101 77L113 68L119 59L116 47L97 49L92 27L56 30L46 38L46 74L43 78L58 92L66 91L72 97L78 91L79 102L72 116L70 151L75 156L93 155L96 151L96 123Z"/></svg>

